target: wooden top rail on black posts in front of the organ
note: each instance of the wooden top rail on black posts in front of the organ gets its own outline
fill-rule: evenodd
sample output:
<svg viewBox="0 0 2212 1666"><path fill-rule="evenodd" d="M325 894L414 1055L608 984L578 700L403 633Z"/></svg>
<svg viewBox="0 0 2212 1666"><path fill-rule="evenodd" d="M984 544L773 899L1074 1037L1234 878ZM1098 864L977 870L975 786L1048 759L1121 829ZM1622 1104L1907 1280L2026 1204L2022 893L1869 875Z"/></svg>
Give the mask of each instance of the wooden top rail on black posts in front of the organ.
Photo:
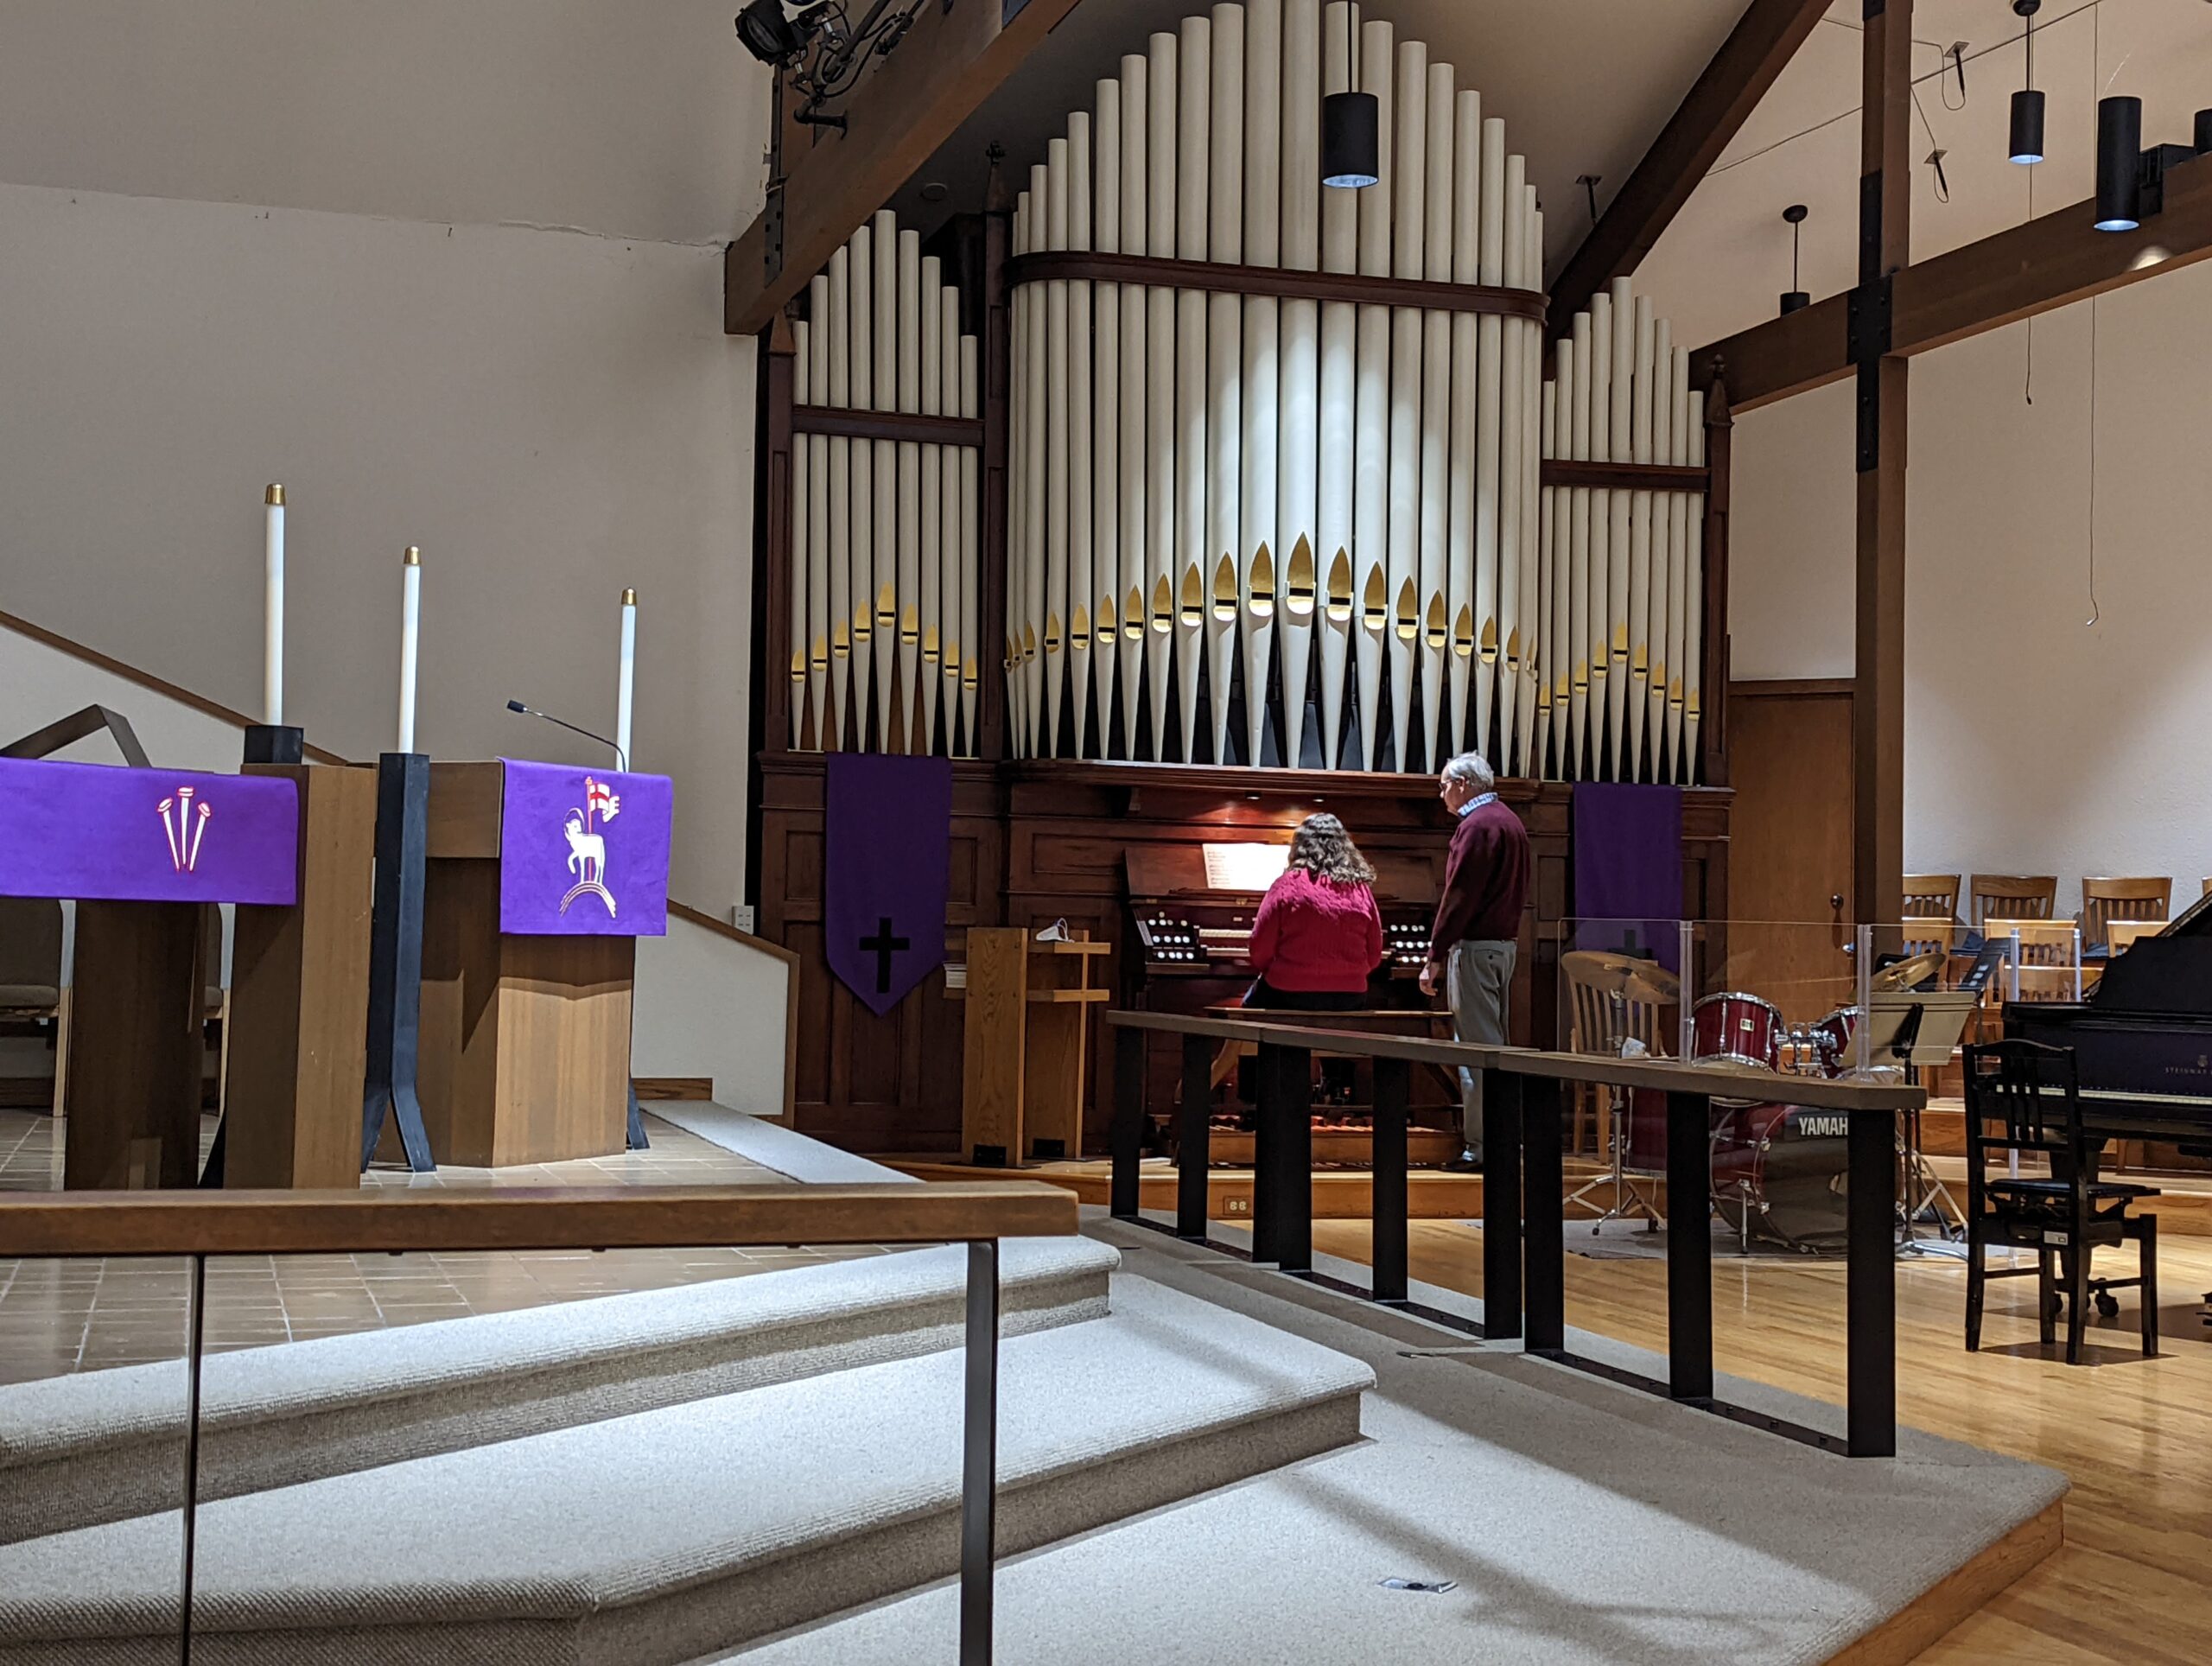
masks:
<svg viewBox="0 0 2212 1666"><path fill-rule="evenodd" d="M1148 1029L1164 1035L1212 1035L1225 1042L1263 1047L1303 1047L1360 1058L1400 1058L1413 1064L1469 1066L1540 1075L1555 1082L1597 1082L1615 1089L1655 1089L1659 1093L1699 1093L1723 1097L1787 1100L1812 1111L1918 1111L1927 1091L1902 1082L1836 1082L1820 1075L1772 1075L1767 1071L1717 1069L1657 1058L1608 1058L1599 1053L1540 1053L1531 1047L1478 1047L1473 1042L1431 1042L1418 1035L1363 1035L1349 1029L1316 1024L1270 1024L1239 1018L1181 1018L1177 1013L1110 1011L1106 1022L1117 1029Z"/></svg>

